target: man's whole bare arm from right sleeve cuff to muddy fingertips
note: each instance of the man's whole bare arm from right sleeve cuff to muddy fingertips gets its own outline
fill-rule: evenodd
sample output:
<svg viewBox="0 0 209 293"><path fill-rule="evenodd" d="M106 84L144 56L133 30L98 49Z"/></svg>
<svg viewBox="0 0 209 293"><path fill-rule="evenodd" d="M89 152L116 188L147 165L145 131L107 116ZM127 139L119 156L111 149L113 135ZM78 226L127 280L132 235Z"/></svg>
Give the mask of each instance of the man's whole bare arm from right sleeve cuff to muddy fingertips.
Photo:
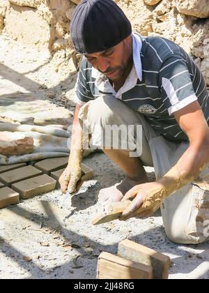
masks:
<svg viewBox="0 0 209 293"><path fill-rule="evenodd" d="M208 165L209 128L199 104L192 103L177 111L175 118L189 139L189 148L161 179L139 184L127 192L123 200L132 200L132 203L123 211L123 220L150 216L169 195L197 179Z"/></svg>

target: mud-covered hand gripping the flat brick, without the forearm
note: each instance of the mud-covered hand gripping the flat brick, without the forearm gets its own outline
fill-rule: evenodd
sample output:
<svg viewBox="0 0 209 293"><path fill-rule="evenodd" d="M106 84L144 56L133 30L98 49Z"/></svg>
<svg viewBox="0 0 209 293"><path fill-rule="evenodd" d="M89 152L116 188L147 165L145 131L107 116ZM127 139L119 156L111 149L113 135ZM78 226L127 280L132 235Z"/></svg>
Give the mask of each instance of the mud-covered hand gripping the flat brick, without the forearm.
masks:
<svg viewBox="0 0 209 293"><path fill-rule="evenodd" d="M134 186L123 197L123 200L132 200L132 202L123 211L120 219L150 216L157 211L166 197L167 190L161 183L150 182Z"/></svg>

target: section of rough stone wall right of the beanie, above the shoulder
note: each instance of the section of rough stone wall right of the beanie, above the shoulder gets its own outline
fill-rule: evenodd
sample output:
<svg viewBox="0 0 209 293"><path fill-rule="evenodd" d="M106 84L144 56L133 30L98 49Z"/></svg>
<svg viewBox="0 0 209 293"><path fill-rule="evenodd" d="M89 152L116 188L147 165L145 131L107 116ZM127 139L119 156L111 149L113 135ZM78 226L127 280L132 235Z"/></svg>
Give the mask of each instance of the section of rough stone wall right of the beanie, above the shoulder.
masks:
<svg viewBox="0 0 209 293"><path fill-rule="evenodd" d="M208 0L116 0L144 36L169 38L198 63L209 87Z"/></svg>

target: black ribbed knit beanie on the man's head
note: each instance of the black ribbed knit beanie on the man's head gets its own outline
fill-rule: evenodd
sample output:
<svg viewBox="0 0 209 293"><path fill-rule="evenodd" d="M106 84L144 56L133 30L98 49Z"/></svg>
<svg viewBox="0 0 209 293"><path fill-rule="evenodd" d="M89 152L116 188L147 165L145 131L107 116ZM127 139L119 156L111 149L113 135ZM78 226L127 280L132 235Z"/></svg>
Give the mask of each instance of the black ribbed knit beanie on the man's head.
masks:
<svg viewBox="0 0 209 293"><path fill-rule="evenodd" d="M91 54L118 45L132 27L113 0L82 0L72 15L70 33L75 50Z"/></svg>

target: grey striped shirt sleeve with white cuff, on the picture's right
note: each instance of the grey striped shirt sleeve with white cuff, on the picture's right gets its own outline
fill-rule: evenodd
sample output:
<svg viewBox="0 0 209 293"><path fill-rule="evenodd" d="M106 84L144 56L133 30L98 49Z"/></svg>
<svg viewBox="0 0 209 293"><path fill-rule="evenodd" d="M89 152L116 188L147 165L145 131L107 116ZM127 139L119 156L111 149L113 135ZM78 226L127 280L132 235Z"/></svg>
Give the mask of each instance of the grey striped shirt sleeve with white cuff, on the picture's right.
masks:
<svg viewBox="0 0 209 293"><path fill-rule="evenodd" d="M192 73L189 73L189 66L182 56L174 55L162 64L160 69L161 91L169 115L197 100L192 77Z"/></svg>

